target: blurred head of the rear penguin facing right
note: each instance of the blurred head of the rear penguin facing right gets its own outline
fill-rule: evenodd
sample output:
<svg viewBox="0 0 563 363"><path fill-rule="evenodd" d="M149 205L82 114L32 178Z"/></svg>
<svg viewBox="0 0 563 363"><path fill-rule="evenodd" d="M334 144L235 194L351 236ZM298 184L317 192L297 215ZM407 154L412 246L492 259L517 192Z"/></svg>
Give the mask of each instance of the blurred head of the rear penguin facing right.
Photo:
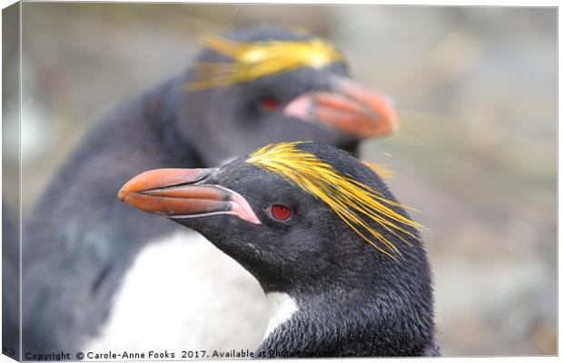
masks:
<svg viewBox="0 0 563 363"><path fill-rule="evenodd" d="M206 165L272 142L356 152L361 139L397 127L389 99L353 82L341 52L318 37L262 25L202 42L179 84L175 119Z"/></svg>

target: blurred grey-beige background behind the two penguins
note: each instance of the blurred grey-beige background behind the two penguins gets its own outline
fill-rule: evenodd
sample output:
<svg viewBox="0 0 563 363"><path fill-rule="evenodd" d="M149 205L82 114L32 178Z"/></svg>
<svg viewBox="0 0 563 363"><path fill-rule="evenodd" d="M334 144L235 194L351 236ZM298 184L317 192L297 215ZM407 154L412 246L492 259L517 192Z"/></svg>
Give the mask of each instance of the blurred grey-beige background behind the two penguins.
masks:
<svg viewBox="0 0 563 363"><path fill-rule="evenodd" d="M430 229L443 355L557 353L556 8L24 3L22 19L24 218L87 127L181 73L198 35L306 27L395 101L400 132L362 157Z"/></svg>

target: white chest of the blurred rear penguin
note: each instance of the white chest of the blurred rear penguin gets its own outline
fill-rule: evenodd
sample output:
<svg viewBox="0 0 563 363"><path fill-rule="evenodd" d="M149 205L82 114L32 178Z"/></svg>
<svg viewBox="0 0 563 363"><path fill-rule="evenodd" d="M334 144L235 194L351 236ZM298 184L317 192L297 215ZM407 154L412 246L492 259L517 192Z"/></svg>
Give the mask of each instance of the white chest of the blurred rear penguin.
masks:
<svg viewBox="0 0 563 363"><path fill-rule="evenodd" d="M112 306L85 350L253 350L268 323L258 281L192 231L142 250Z"/></svg>

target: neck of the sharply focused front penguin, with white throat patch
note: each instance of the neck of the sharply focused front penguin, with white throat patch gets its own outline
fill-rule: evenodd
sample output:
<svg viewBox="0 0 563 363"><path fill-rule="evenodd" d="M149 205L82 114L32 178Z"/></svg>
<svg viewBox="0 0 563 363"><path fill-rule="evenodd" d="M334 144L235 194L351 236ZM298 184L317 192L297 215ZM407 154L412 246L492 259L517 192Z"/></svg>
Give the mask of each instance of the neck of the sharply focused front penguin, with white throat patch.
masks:
<svg viewBox="0 0 563 363"><path fill-rule="evenodd" d="M428 355L435 346L431 309L411 305L400 289L339 284L266 296L270 321L257 355L407 357Z"/></svg>

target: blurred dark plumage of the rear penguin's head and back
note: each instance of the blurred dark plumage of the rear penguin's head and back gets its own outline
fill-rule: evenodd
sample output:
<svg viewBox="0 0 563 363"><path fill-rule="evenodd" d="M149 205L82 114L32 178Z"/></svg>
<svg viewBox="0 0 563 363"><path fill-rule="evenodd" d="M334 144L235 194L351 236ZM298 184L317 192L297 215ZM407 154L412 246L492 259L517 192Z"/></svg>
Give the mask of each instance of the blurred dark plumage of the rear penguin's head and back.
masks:
<svg viewBox="0 0 563 363"><path fill-rule="evenodd" d="M262 26L228 37L252 42L310 35ZM197 61L228 59L206 49ZM356 152L356 137L258 105L264 96L285 104L311 90L331 90L331 77L345 74L339 62L187 92L194 77L188 70L96 123L25 223L24 352L83 347L107 319L134 257L151 240L178 231L115 201L123 180L152 168L207 167L267 142L315 140Z"/></svg>

